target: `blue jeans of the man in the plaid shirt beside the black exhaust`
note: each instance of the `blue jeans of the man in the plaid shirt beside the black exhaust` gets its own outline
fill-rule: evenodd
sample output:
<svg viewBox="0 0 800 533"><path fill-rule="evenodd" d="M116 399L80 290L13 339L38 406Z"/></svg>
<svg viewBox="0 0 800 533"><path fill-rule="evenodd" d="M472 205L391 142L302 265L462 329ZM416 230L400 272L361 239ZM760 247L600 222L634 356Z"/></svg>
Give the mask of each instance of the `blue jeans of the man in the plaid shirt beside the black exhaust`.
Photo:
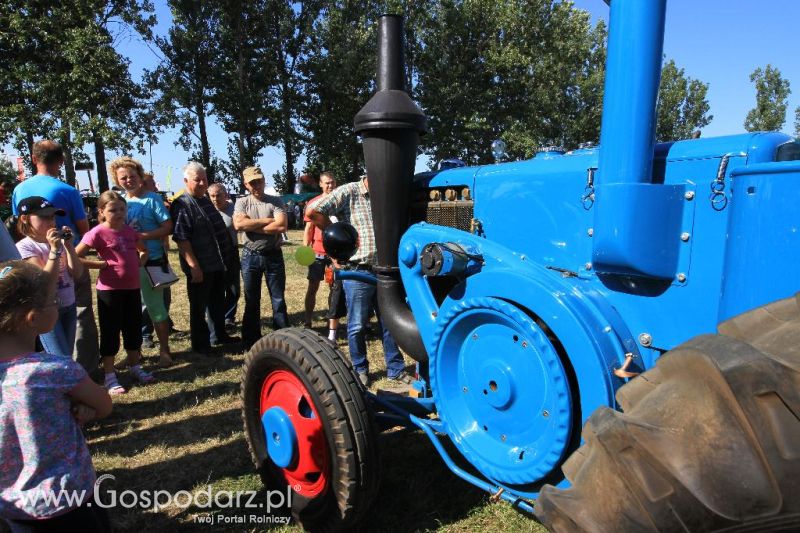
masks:
<svg viewBox="0 0 800 533"><path fill-rule="evenodd" d="M364 326L370 317L370 312L375 309L378 325L383 334L383 355L386 358L386 374L396 377L405 368L403 354L397 348L392 334L383 327L381 315L378 311L377 287L370 283L346 279L343 281L345 299L347 300L347 345L350 349L350 360L353 368L359 374L369 372L367 361L367 341L364 335Z"/></svg>

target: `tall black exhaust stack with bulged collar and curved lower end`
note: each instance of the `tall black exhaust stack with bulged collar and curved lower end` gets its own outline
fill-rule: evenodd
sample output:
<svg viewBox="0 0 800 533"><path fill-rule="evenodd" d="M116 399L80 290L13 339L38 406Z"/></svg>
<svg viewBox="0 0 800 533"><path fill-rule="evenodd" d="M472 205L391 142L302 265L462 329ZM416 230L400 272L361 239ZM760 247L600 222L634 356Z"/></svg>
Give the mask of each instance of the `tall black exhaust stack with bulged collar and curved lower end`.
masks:
<svg viewBox="0 0 800 533"><path fill-rule="evenodd" d="M408 226L411 181L427 117L405 91L403 19L383 15L378 26L378 92L353 120L364 144L375 242L378 307L398 346L417 361L428 354L406 303L397 249Z"/></svg>

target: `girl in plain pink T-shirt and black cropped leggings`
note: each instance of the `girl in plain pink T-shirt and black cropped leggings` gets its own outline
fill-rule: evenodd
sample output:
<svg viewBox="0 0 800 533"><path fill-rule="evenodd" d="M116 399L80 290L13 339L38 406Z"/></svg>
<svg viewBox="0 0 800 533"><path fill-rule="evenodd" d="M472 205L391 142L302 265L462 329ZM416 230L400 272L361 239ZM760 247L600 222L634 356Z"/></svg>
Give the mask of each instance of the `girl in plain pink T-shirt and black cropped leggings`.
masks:
<svg viewBox="0 0 800 533"><path fill-rule="evenodd" d="M101 223L83 236L76 251L79 257L84 257L89 248L94 248L100 258L98 261L84 260L85 266L100 269L97 277L100 357L109 394L124 394L126 391L114 372L120 333L133 377L140 383L153 381L153 376L140 364L142 300L139 267L147 262L147 250L139 234L125 224L127 203L118 193L106 191L101 194L97 200L97 214Z"/></svg>

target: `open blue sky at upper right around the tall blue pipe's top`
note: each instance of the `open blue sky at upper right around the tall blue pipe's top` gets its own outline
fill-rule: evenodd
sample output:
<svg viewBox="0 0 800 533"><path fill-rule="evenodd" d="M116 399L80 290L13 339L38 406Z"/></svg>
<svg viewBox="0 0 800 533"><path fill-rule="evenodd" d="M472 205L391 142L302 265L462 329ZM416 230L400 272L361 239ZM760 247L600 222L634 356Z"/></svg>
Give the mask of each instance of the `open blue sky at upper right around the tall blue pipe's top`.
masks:
<svg viewBox="0 0 800 533"><path fill-rule="evenodd" d="M642 0L646 1L646 0ZM574 0L608 22L602 0ZM685 74L709 84L714 120L704 137L744 131L744 119L755 105L750 73L777 67L793 89L784 131L794 132L794 110L800 106L800 61L797 58L800 2L797 0L667 0L664 54Z"/></svg>

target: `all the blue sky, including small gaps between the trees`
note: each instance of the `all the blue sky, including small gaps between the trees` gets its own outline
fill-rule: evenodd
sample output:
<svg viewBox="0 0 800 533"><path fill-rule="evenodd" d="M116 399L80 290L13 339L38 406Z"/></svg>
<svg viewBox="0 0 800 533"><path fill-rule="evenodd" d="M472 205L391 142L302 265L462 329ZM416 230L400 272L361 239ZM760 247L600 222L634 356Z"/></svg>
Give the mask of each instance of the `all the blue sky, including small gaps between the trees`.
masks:
<svg viewBox="0 0 800 533"><path fill-rule="evenodd" d="M647 1L647 0L642 0ZM576 7L592 14L592 20L608 20L608 7L603 0L574 0ZM170 25L166 2L156 0L158 25L156 33L165 34ZM711 124L704 128L704 137L741 133L744 118L755 103L755 89L750 73L768 63L780 69L794 89L789 96L789 109L784 131L794 130L794 109L800 106L800 61L797 59L800 2L797 0L668 0L664 53L685 69L687 76L709 84L708 99ZM154 52L136 35L126 34L118 39L120 53L131 60L135 79L142 70L152 69L158 62ZM227 136L213 122L209 124L212 149L227 157ZM177 132L161 135L152 147L152 169L161 188L181 187L180 168L189 156L175 146ZM89 147L87 147L89 148ZM488 147L487 147L488 149ZM89 154L93 156L91 149ZM150 167L150 154L135 154ZM109 159L113 154L107 154ZM283 165L282 152L276 147L264 150L259 160L264 173L271 176ZM303 160L298 166L302 168ZM417 168L425 168L427 160L420 158ZM171 170L170 170L171 169ZM171 174L171 187L166 179ZM82 188L87 187L86 174L78 173Z"/></svg>

